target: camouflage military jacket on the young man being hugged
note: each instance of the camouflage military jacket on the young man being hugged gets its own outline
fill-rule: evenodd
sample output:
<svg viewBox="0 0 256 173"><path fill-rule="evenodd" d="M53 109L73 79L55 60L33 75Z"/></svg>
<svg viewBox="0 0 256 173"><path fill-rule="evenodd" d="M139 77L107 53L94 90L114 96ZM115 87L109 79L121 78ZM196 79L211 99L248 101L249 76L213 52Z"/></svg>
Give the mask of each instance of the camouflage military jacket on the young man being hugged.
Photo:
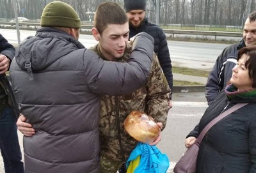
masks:
<svg viewBox="0 0 256 173"><path fill-rule="evenodd" d="M99 50L99 45L91 49L106 60ZM128 45L124 56L116 61L127 62L130 54L131 45ZM125 117L132 110L140 110L165 126L169 110L169 95L170 87L155 54L145 86L128 96L102 96L99 122L100 154L113 160L122 161L123 157L127 160L137 142L125 132L123 125Z"/></svg>

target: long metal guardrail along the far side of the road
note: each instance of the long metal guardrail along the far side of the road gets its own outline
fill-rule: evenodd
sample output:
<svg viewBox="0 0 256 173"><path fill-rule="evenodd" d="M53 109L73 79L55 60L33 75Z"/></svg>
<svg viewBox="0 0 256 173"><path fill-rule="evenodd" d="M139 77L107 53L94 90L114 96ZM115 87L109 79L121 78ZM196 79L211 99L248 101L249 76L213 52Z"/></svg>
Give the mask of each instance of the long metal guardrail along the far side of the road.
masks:
<svg viewBox="0 0 256 173"><path fill-rule="evenodd" d="M1 25L9 25L15 26L15 22L0 22ZM40 27L39 23L30 23L30 22L19 22L19 26L35 26ZM93 26L81 25L81 29L92 29ZM191 35L202 35L202 36L215 36L215 40L217 40L217 36L231 36L231 37L243 37L243 33L237 32L222 32L222 31L195 31L195 30L182 30L182 29L163 29L164 33L172 34L174 37L175 34L191 34Z"/></svg>

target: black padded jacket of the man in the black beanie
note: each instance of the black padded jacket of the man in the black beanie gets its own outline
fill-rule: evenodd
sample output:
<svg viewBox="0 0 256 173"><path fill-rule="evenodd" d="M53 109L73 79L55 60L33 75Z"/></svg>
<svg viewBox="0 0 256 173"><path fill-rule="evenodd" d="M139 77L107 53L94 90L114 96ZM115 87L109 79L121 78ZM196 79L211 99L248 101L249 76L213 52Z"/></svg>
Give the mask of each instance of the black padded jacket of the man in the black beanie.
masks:
<svg viewBox="0 0 256 173"><path fill-rule="evenodd" d="M170 59L170 52L168 49L168 43L166 40L166 35L163 29L152 22L149 22L147 18L143 20L139 27L132 27L129 25L130 33L129 39L138 33L145 32L150 34L154 38L154 52L156 53L161 68L164 72L164 76L170 86L173 87L173 75L172 75L172 61Z"/></svg>

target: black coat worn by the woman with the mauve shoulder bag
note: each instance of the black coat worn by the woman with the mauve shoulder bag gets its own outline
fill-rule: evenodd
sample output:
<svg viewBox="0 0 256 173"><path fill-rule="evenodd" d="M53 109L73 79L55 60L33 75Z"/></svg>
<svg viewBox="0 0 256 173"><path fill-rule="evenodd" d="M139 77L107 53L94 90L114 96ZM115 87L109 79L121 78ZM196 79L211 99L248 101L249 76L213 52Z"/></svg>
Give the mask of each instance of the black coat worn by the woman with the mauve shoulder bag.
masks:
<svg viewBox="0 0 256 173"><path fill-rule="evenodd" d="M229 102L230 101L230 102ZM221 92L205 110L204 116L188 137L198 137L202 129L236 103L249 103L214 124L200 145L197 173L256 172L256 97L236 96L228 100Z"/></svg>

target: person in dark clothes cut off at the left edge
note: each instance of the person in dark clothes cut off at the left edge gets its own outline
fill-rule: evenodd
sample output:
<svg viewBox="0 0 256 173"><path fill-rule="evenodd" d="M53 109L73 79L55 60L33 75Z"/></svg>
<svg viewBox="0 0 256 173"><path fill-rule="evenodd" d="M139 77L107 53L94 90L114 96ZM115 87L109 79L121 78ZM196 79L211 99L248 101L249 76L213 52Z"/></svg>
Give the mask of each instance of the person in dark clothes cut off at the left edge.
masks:
<svg viewBox="0 0 256 173"><path fill-rule="evenodd" d="M19 109L5 75L14 54L13 45L0 34L0 150L6 173L24 172L16 126Z"/></svg>

